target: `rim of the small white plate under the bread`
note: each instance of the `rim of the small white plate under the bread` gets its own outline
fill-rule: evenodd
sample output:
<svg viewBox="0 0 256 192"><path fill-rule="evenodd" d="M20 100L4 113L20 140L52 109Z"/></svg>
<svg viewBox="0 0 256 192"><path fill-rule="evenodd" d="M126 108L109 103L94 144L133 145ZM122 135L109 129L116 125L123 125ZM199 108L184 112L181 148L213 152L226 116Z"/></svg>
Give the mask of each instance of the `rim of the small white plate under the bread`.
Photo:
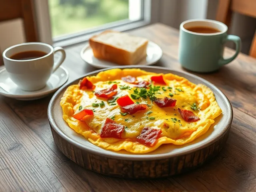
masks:
<svg viewBox="0 0 256 192"><path fill-rule="evenodd" d="M154 61L154 62L149 62L149 63L146 64L146 65L140 65L140 66L153 65L153 64L155 64L156 62L158 62L158 61L162 58L162 56L163 56L163 50L161 49L161 47L160 47L158 44L156 44L155 42L150 41L150 40L148 40L148 43L153 44L154 46L158 47L159 50L161 50L161 54L159 55L159 58L158 58L156 61ZM87 62L87 61L84 59L84 52L85 52L85 50L86 50L87 48L90 48L90 44L89 44L89 43L87 43L87 44L82 48L82 50L80 51L80 57L82 58L82 60L83 60L84 62L88 63L90 66L93 66L93 67L98 68L98 69L112 68L112 67L118 67L118 66L120 66L120 65L116 64L116 66L102 66L102 67L99 67L99 66L96 66L96 65L94 65L94 64L92 64L92 63ZM110 62L110 63L112 63L112 62ZM139 65L137 65L137 66L139 66Z"/></svg>

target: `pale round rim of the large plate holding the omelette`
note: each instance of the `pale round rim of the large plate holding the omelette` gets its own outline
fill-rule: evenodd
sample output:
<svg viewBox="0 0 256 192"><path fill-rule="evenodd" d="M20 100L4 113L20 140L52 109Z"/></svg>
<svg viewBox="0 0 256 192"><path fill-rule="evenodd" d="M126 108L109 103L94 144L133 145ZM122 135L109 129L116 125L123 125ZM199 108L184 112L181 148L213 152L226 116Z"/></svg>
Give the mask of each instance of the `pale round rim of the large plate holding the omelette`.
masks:
<svg viewBox="0 0 256 192"><path fill-rule="evenodd" d="M74 84L74 82L80 80L81 78L85 77L85 76L90 76L92 74L97 74L101 71L105 71L105 70L110 70L110 69L114 69L117 67L111 67L111 68L104 68L104 69L100 69L100 70L95 70L93 72L89 72L84 74L83 76L80 76L79 78L76 78L75 80L73 80L72 82L68 83L68 84L64 84L61 88L59 88L59 90L57 92L54 93L54 95L52 96L49 105L48 105L48 110L47 110L47 115L48 115L48 120L50 123L50 126L55 130L55 132L61 136L64 140L66 140L67 142L69 142L70 144L73 144L74 146L92 153L92 154L96 154L99 156L104 156L104 157L108 157L108 158L115 158L115 159L123 159L123 160L159 160L159 159L166 159L166 158L173 158L176 156L181 156L184 154L189 154L192 152L195 152L197 150L200 150L202 148L205 148L207 146L210 146L211 144L213 144L214 142L216 142L217 140L219 140L231 127L232 124L232 120L233 120L233 109L232 109L232 105L230 103L230 101L228 100L228 98L226 97L226 95L220 90L218 89L214 84L210 83L209 81L196 76L194 74L190 74L188 72L184 72L184 71L178 71L178 70L170 70L168 68L165 67L160 67L160 66L137 66L137 65L133 65L133 66L119 66L118 68L124 69L124 68L153 68L153 69L162 69L162 70L166 70L168 72L171 71L176 71L176 72L181 72L184 73L188 76L191 76L192 78L196 78L197 80L200 80L204 83L207 84L207 86L210 86L211 89L214 89L216 92L218 92L221 95L221 98L224 99L224 103L226 104L228 111L230 112L230 114L228 115L230 118L228 119L228 122L226 124L226 126L223 126L223 129L218 133L218 135L213 138L212 140L209 140L208 142L206 142L205 144L203 144L202 146L198 146L196 148L192 148L192 149L188 149L182 152L177 152L176 154L167 154L167 153L163 153L163 154L153 154L153 155L147 155L144 154L143 156L138 156L138 154L120 154L120 153L116 153L116 154L108 154L108 150L106 150L106 153L102 153L102 152L98 152L95 150L91 150L90 147L86 147L82 144L80 144L79 142L76 142L75 140L69 138L66 134L64 134L64 132L62 132L62 130L60 130L58 128L58 126L56 125L56 122L53 118L53 106L54 106L54 102L55 100L58 99L58 97L60 96L60 93L66 89L68 86ZM146 70L146 69L142 69L142 70ZM62 96L62 95L61 95Z"/></svg>

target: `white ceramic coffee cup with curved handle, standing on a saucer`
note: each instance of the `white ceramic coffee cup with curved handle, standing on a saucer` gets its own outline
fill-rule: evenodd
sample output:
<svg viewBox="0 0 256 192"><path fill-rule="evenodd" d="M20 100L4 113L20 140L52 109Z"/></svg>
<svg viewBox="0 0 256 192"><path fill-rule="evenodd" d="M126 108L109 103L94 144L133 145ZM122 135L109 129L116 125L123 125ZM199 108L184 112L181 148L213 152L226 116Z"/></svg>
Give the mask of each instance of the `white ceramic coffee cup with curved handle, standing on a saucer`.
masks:
<svg viewBox="0 0 256 192"><path fill-rule="evenodd" d="M11 56L19 52L41 51L46 55L28 60L14 60ZM54 62L54 54L61 52L61 57ZM63 48L53 48L40 42L22 43L11 46L3 52L4 66L11 80L22 90L35 91L44 88L51 74L63 63L66 53Z"/></svg>

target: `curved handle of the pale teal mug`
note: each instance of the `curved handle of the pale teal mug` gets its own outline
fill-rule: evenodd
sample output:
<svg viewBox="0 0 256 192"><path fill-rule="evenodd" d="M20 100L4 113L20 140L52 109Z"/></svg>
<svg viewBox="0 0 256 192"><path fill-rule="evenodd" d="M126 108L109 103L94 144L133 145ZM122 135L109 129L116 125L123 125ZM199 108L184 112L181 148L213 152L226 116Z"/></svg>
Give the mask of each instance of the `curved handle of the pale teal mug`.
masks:
<svg viewBox="0 0 256 192"><path fill-rule="evenodd" d="M236 52L232 57L230 57L228 59L224 59L223 56L222 56L222 58L218 62L218 64L220 66L223 66L223 65L226 65L226 64L230 63L232 60L234 60L238 56L239 52L241 51L241 39L240 39L240 37L235 36L235 35L228 35L223 40L222 43L224 44L227 41L233 41L236 44Z"/></svg>

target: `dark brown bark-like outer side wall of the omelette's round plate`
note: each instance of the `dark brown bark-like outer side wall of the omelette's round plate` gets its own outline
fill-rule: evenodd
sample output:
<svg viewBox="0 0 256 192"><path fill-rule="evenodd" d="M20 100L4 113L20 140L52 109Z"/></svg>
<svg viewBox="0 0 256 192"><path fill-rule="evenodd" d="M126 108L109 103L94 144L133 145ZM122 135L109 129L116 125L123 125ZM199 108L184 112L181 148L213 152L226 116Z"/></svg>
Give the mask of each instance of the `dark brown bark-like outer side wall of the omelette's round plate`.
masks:
<svg viewBox="0 0 256 192"><path fill-rule="evenodd" d="M150 161L119 160L98 156L70 144L52 128L52 135L58 148L75 163L94 172L120 178L162 178L193 170L216 156L226 144L228 131L213 144L195 152Z"/></svg>

